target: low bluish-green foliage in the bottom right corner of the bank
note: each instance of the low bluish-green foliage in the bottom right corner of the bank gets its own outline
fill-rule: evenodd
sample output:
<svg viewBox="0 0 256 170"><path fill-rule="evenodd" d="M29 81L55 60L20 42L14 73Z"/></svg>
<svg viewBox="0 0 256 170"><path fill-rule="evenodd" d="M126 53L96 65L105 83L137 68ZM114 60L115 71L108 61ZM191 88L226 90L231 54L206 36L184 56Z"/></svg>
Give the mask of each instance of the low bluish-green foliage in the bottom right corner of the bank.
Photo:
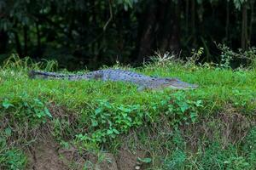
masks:
<svg viewBox="0 0 256 170"><path fill-rule="evenodd" d="M200 147L191 156L187 155L189 153L184 148L176 148L171 156L166 157L163 167L165 169L253 169L256 160L255 151L252 146L251 148L247 146L252 144L252 139L255 139L252 135L254 132L255 129L252 129L247 135L250 139L244 140L242 152L237 153L237 148L241 146L230 144L222 148L218 142L209 141L204 150Z"/></svg>

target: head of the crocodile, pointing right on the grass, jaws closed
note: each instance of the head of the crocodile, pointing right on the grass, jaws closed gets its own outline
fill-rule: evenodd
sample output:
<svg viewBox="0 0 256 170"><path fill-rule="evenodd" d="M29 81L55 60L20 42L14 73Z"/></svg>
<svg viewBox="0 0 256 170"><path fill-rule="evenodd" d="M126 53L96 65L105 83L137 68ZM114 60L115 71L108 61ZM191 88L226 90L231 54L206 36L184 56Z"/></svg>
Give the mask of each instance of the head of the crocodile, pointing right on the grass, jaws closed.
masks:
<svg viewBox="0 0 256 170"><path fill-rule="evenodd" d="M194 89L198 88L198 85L190 84L188 82L182 82L177 78L160 78L161 88L176 88L176 89Z"/></svg>

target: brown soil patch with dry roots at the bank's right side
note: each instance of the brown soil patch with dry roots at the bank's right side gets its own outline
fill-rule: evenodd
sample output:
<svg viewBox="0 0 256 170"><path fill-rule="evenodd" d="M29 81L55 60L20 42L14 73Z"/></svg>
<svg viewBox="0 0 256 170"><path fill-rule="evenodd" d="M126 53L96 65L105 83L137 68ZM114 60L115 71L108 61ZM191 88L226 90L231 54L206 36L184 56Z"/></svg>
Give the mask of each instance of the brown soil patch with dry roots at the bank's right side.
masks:
<svg viewBox="0 0 256 170"><path fill-rule="evenodd" d="M224 111L218 112L216 116L195 124L184 125L181 127L181 132L190 150L197 150L202 144L201 136L212 141L218 140L223 147L226 147L229 143L241 142L255 124L256 119L248 119L247 116L237 112L236 108L226 105Z"/></svg>

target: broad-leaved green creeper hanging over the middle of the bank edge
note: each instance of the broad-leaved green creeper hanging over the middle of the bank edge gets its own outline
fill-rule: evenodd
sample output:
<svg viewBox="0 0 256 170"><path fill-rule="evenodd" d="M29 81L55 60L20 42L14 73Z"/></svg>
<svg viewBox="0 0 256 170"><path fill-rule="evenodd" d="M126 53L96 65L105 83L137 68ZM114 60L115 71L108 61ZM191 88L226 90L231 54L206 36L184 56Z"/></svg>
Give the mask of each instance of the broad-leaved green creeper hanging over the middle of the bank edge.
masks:
<svg viewBox="0 0 256 170"><path fill-rule="evenodd" d="M173 101L173 102L172 102ZM166 98L160 105L149 103L143 105L114 105L107 100L98 100L97 106L90 113L89 134L77 134L80 141L92 143L106 143L109 139L115 139L119 134L128 133L131 128L143 126L145 123L153 123L159 119L158 111L164 112L170 119L173 127L184 122L195 123L197 119L197 108L202 107L201 100L190 101L185 99L185 94L173 94Z"/></svg>

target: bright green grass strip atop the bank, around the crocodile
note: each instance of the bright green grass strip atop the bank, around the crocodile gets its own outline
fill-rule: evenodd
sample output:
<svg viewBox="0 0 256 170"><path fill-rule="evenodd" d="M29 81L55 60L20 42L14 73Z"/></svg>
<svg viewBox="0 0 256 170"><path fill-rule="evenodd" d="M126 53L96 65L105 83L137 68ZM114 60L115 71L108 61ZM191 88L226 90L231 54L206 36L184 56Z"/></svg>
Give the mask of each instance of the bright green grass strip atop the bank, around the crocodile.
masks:
<svg viewBox="0 0 256 170"><path fill-rule="evenodd" d="M168 96L177 92L172 89L139 92L135 85L124 82L31 80L27 77L27 72L31 69L38 70L38 65L42 67L43 64L28 65L27 60L24 63L19 60L18 64L9 62L9 66L4 66L0 71L2 98L12 98L12 96L26 93L34 98L55 101L68 108L75 108L86 102L96 102L98 99L108 99L118 104L138 103L143 105L150 101L157 102L161 99L160 96ZM22 65L25 66L22 67ZM44 64L44 68L41 70L51 71L53 67L55 65L49 62L48 65ZM137 71L132 68L125 69ZM79 73L81 72L79 71ZM234 100L238 103L245 101L250 103L253 96L256 96L255 71L232 71L203 67L191 69L185 65L170 62L161 66L150 64L140 68L137 72L148 76L178 77L184 82L198 84L199 88L186 90L184 93L191 98L203 99L206 103L213 102L218 106Z"/></svg>

